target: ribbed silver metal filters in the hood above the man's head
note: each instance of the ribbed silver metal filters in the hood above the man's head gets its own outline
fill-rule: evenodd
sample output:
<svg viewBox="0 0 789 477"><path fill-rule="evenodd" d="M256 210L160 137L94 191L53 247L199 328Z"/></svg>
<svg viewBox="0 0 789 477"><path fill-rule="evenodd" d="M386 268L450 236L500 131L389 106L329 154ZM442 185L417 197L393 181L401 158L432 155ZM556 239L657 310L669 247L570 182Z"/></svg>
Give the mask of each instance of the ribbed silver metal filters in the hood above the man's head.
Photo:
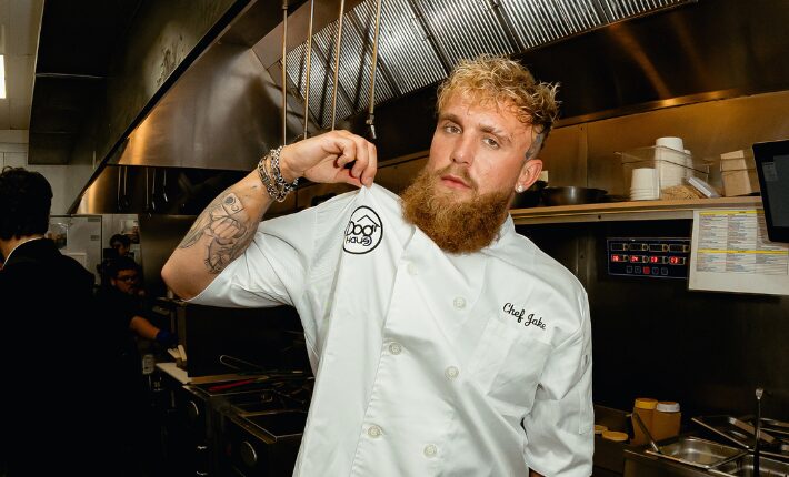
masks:
<svg viewBox="0 0 789 477"><path fill-rule="evenodd" d="M381 8L376 103L443 79L462 58L517 54L607 24L696 0L387 0ZM369 103L377 0L364 0L343 16L337 116ZM331 123L333 51L338 21L313 37L310 78L312 119ZM288 77L306 92L306 42L288 53ZM362 52L360 55L359 52Z"/></svg>

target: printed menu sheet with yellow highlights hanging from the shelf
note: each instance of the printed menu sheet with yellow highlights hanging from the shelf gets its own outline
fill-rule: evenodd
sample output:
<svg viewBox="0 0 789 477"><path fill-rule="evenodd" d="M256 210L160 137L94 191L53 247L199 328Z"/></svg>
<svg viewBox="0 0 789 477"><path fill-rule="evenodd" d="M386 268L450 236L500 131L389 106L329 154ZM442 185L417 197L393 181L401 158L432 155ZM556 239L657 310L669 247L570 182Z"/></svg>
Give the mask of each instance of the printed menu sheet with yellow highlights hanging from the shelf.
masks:
<svg viewBox="0 0 789 477"><path fill-rule="evenodd" d="M688 288L789 295L788 245L767 238L761 209L693 211Z"/></svg>

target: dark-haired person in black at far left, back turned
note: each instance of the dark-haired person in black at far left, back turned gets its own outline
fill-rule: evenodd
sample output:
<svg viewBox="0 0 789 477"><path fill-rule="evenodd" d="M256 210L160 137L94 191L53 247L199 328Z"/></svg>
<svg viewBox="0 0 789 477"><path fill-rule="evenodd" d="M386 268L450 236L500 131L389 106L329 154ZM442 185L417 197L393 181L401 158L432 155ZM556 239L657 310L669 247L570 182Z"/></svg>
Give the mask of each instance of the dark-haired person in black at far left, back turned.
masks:
<svg viewBox="0 0 789 477"><path fill-rule="evenodd" d="M0 173L0 469L8 477L108 475L117 456L93 275L44 238L52 187ZM2 474L2 471L0 471Z"/></svg>

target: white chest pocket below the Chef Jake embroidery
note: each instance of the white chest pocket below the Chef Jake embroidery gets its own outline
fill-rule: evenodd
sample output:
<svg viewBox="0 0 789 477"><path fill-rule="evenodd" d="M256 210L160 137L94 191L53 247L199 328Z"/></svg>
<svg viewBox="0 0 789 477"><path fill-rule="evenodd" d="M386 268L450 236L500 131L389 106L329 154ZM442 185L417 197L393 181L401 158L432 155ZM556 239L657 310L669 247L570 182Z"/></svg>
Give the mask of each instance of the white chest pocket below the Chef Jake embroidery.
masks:
<svg viewBox="0 0 789 477"><path fill-rule="evenodd" d="M531 409L550 353L550 345L532 332L491 317L469 364L471 375L501 413L518 418Z"/></svg>

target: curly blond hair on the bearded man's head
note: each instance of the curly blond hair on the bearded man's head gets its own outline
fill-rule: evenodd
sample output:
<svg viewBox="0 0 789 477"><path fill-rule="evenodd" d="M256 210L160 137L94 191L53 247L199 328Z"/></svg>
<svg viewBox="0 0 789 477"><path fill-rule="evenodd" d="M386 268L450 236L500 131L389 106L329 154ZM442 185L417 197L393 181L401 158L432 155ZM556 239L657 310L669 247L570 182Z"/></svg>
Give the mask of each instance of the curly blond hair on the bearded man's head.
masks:
<svg viewBox="0 0 789 477"><path fill-rule="evenodd" d="M512 108L518 119L533 128L540 143L559 115L557 83L535 80L529 70L507 57L482 54L473 60L460 60L438 89L437 111L455 93L469 95L481 103ZM537 142L537 141L536 141Z"/></svg>

